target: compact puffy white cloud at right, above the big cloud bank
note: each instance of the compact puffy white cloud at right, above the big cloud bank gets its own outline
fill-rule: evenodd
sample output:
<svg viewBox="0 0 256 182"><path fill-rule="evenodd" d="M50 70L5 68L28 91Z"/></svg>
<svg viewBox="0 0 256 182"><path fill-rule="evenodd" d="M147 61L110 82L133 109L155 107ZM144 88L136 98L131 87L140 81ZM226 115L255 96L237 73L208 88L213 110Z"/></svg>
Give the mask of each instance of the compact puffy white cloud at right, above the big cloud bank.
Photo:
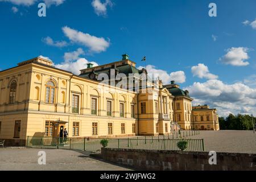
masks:
<svg viewBox="0 0 256 182"><path fill-rule="evenodd" d="M247 53L248 51L249 49L246 47L229 48L228 53L222 56L220 58L220 61L221 63L230 64L237 67L249 65L250 63L248 61L245 61L250 58Z"/></svg>

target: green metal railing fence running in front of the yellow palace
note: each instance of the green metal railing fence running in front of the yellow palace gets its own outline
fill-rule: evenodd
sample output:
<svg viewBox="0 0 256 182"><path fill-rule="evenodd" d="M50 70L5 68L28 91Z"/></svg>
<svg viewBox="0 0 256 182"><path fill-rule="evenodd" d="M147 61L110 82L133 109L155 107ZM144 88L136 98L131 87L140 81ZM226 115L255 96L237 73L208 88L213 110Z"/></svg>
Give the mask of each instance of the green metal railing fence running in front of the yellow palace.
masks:
<svg viewBox="0 0 256 182"><path fill-rule="evenodd" d="M101 151L102 138L52 138L27 137L27 147L35 148L62 148L81 151ZM141 150L179 150L177 143L181 139L141 139L141 138L114 138L108 139L109 148L131 148ZM204 151L204 139L184 139L188 142L186 151Z"/></svg>

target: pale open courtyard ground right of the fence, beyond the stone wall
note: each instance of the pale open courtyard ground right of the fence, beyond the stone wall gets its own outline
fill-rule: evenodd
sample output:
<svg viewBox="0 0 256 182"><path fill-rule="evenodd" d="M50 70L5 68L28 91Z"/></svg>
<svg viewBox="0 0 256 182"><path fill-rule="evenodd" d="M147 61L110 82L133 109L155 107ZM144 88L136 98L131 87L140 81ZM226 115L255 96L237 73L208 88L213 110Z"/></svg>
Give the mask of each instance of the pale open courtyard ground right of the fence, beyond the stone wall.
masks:
<svg viewBox="0 0 256 182"><path fill-rule="evenodd" d="M200 131L186 138L204 139L205 151L256 153L256 133L253 131Z"/></svg>

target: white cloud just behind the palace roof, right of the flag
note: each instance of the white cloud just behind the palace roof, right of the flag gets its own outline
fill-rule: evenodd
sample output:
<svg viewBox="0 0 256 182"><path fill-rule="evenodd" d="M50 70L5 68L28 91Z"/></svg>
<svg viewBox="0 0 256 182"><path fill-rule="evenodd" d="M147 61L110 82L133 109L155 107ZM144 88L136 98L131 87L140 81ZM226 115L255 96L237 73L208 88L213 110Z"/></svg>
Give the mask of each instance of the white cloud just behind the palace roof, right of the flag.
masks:
<svg viewBox="0 0 256 182"><path fill-rule="evenodd" d="M138 67L138 69L142 69L144 67ZM153 80L156 80L158 77L163 81L163 84L170 84L171 80L176 81L177 83L185 82L186 76L183 71L177 71L172 73L167 73L162 69L156 69L154 65L146 66L148 76L150 76Z"/></svg>

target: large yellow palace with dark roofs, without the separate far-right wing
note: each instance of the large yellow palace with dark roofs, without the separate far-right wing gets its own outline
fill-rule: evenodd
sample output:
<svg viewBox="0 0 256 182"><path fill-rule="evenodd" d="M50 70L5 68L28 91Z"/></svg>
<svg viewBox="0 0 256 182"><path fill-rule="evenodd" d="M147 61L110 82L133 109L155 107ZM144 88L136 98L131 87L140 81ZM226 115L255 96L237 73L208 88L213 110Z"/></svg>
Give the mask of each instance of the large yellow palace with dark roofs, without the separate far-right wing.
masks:
<svg viewBox="0 0 256 182"><path fill-rule="evenodd" d="M77 76L39 56L1 71L0 139L24 145L28 136L63 137L64 129L69 137L166 135L194 129L188 91L160 80L139 85L138 75L148 73L135 64L122 55L121 61L88 64ZM122 88L115 80L114 86L102 86L97 78L112 70L131 77L131 82Z"/></svg>

